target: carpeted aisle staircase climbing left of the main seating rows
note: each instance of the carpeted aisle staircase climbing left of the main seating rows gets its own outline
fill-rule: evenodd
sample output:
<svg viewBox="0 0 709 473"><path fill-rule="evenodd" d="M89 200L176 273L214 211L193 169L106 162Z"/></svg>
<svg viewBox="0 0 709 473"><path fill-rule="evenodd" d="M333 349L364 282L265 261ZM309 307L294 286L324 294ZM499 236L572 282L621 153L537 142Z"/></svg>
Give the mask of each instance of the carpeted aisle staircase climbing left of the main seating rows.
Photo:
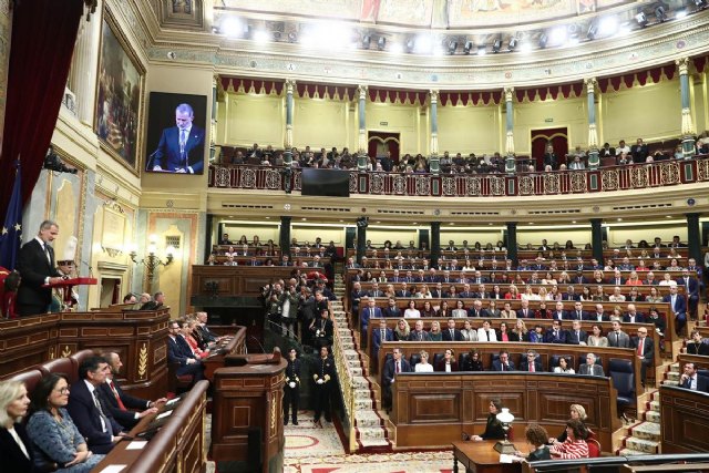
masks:
<svg viewBox="0 0 709 473"><path fill-rule="evenodd" d="M357 350L354 333L349 327L347 313L342 307L345 281L341 275L335 277L335 295L337 300L331 302L336 326L335 337L337 338L335 346L336 349L341 350L345 364L343 370L338 367L340 370L338 379L345 402L348 402L347 394L353 398L352 405L346 407L348 414L350 414L354 435L354 441L350 441L350 446L353 446L358 453L390 451L391 442L388 439L384 421L377 413L374 392L366 378L366 367ZM353 411L353 414L349 412L350 410Z"/></svg>

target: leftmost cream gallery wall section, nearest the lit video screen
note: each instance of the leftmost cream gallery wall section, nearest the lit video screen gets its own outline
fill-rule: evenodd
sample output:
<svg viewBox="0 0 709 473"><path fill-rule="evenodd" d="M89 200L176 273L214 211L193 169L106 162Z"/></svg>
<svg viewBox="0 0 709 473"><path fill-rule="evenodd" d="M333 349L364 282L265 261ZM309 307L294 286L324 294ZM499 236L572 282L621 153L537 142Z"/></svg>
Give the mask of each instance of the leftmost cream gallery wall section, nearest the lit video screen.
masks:
<svg viewBox="0 0 709 473"><path fill-rule="evenodd" d="M278 95L226 93L217 107L218 144L280 148L285 130L284 99Z"/></svg>

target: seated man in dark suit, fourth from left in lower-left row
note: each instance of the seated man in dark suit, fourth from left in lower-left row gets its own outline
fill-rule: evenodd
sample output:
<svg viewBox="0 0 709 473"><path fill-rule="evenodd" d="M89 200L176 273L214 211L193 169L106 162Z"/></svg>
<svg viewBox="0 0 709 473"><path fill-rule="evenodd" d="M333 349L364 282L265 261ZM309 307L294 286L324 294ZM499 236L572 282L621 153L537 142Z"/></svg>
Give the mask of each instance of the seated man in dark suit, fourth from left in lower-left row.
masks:
<svg viewBox="0 0 709 473"><path fill-rule="evenodd" d="M113 418L125 429L133 429L141 419L156 413L167 401L166 398L148 401L126 394L116 380L121 372L121 367L123 367L121 357L119 353L110 351L104 353L103 358L109 362L110 370L106 374L106 382L99 387L99 393L102 397L103 405L109 408Z"/></svg>

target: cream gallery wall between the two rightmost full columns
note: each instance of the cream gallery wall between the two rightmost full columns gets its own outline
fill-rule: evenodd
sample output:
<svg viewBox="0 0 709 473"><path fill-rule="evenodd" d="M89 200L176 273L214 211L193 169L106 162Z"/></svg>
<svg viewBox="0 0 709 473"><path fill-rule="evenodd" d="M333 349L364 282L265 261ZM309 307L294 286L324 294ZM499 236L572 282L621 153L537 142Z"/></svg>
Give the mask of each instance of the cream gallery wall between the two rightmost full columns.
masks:
<svg viewBox="0 0 709 473"><path fill-rule="evenodd" d="M636 138L646 142L675 138L681 132L679 81L660 81L600 95L599 144L617 145L625 140L628 146Z"/></svg>

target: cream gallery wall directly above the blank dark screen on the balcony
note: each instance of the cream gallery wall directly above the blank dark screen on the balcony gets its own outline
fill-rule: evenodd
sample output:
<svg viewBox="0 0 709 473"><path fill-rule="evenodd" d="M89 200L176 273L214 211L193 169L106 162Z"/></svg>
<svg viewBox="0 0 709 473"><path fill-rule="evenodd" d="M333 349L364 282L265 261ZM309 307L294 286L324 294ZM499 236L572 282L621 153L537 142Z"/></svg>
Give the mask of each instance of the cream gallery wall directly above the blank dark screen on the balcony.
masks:
<svg viewBox="0 0 709 473"><path fill-rule="evenodd" d="M295 99L294 145L341 150L348 143L348 103L325 99ZM285 127L285 125L282 126Z"/></svg>

